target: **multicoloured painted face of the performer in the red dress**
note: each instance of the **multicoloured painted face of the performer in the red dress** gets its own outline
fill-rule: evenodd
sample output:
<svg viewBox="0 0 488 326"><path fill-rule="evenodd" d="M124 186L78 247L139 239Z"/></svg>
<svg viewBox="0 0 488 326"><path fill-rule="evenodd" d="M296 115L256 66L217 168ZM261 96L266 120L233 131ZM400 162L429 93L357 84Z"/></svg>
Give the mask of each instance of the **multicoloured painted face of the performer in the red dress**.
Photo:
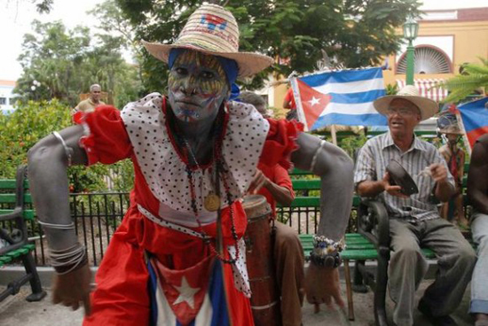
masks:
<svg viewBox="0 0 488 326"><path fill-rule="evenodd" d="M216 117L229 94L224 68L216 57L193 50L177 57L168 86L171 109L185 122Z"/></svg>

